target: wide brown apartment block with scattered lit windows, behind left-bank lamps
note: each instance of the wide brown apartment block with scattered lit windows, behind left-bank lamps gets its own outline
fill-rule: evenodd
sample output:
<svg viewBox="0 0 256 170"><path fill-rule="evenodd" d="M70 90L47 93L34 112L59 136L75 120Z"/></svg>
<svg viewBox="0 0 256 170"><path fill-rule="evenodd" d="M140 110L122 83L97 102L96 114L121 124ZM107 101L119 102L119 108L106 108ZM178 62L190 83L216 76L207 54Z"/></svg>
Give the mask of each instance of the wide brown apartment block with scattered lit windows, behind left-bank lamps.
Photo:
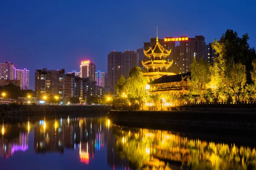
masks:
<svg viewBox="0 0 256 170"><path fill-rule="evenodd" d="M42 70L35 71L35 94L38 97L43 95L53 97L59 96L59 102L67 103L73 97L72 76L65 74L65 69L61 70Z"/></svg>

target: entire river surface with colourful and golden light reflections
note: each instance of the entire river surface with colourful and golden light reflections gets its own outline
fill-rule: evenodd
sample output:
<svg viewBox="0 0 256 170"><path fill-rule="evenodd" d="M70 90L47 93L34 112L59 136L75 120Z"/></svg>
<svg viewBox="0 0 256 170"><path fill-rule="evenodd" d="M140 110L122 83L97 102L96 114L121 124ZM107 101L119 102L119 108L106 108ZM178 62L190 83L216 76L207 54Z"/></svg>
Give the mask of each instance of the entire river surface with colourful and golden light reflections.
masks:
<svg viewBox="0 0 256 170"><path fill-rule="evenodd" d="M121 127L106 117L45 117L0 127L0 170L256 169L253 145Z"/></svg>

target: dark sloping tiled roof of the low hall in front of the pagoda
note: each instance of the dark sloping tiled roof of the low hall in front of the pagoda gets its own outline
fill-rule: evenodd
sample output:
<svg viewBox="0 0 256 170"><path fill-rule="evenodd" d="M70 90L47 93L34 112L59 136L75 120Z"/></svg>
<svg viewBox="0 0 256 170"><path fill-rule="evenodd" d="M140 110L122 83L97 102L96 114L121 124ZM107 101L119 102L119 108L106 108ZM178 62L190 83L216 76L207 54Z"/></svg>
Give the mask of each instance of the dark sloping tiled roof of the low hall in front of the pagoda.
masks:
<svg viewBox="0 0 256 170"><path fill-rule="evenodd" d="M164 83L171 83L171 82L181 82L187 81L187 79L191 76L190 72L184 74L176 74L176 75L164 75L154 81L148 83L149 85L157 85L157 84L164 84Z"/></svg>

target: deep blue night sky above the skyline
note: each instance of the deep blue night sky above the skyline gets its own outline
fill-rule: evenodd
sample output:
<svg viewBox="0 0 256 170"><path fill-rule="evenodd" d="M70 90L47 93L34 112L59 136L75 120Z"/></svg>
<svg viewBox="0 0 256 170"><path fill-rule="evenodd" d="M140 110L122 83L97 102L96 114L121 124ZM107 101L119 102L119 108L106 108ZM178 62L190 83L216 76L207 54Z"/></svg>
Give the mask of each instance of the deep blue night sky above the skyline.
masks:
<svg viewBox="0 0 256 170"><path fill-rule="evenodd" d="M223 2L225 1L225 2ZM0 0L0 62L35 69L79 71L90 59L107 72L110 51L136 50L150 37L248 33L256 47L255 0Z"/></svg>

